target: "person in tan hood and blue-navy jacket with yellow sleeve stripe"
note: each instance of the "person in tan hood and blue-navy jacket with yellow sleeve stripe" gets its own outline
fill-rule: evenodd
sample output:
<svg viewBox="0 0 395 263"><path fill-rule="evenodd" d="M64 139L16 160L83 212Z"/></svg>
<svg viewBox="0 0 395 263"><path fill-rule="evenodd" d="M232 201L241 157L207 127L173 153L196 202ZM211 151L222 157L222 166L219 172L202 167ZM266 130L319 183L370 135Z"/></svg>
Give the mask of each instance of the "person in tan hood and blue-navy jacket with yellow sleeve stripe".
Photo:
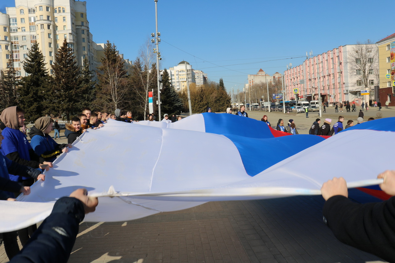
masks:
<svg viewBox="0 0 395 263"><path fill-rule="evenodd" d="M58 144L49 136L52 131L53 120L50 117L41 117L34 122L30 130L30 145L34 152L44 158L47 162L55 161L62 152L68 152L71 144Z"/></svg>

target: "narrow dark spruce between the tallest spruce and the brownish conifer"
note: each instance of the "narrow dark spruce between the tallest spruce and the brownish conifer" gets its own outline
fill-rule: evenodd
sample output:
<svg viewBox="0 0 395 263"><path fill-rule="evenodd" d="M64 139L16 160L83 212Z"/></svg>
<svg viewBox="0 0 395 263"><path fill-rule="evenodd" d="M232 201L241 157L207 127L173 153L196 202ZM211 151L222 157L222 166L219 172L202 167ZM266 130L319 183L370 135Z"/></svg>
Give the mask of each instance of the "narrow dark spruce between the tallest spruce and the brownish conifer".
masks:
<svg viewBox="0 0 395 263"><path fill-rule="evenodd" d="M81 70L81 86L78 89L80 100L77 102L78 109L84 107L93 107L93 101L96 99L96 81L92 81L93 71L89 70L89 60L84 58Z"/></svg>

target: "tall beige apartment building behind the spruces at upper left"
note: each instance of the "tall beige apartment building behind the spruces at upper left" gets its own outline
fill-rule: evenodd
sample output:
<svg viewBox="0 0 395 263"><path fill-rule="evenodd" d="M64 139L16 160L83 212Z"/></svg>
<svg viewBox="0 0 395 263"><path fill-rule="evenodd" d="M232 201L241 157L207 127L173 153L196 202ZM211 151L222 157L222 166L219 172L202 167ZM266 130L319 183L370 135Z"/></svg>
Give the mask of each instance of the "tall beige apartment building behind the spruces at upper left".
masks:
<svg viewBox="0 0 395 263"><path fill-rule="evenodd" d="M12 55L17 76L26 73L21 62L28 49L37 41L42 51L48 72L55 54L67 39L79 66L88 58L90 69L100 64L104 44L92 39L87 20L87 2L75 0L15 0L15 7L7 7L6 14L0 13L0 70L7 67ZM129 68L131 61L125 60Z"/></svg>

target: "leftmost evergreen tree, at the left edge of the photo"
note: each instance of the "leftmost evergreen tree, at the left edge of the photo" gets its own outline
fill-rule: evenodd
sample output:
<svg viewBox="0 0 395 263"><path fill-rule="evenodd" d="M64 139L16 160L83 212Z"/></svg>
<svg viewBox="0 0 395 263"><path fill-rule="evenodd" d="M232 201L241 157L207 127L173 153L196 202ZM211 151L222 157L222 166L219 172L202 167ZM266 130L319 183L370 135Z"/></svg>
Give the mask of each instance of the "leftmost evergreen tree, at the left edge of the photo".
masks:
<svg viewBox="0 0 395 263"><path fill-rule="evenodd" d="M5 108L17 105L17 85L18 80L15 77L15 69L12 60L12 53L7 62L6 71L0 72L0 111Z"/></svg>

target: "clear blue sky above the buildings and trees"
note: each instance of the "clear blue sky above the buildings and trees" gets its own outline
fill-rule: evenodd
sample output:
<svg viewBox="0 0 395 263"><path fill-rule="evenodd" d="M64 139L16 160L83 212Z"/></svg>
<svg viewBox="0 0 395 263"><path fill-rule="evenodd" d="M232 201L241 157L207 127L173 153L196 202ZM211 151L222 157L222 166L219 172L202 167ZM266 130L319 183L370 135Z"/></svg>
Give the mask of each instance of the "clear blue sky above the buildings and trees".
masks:
<svg viewBox="0 0 395 263"><path fill-rule="evenodd" d="M15 6L14 0L0 2L1 12ZM391 4L387 0L158 0L160 68L186 60L210 80L218 82L222 77L228 90L243 88L248 74L260 68L269 74L283 73L287 64L301 64L306 51L321 54L393 34L387 11ZM87 0L87 18L96 43L109 40L125 58L134 60L155 32L155 3Z"/></svg>

